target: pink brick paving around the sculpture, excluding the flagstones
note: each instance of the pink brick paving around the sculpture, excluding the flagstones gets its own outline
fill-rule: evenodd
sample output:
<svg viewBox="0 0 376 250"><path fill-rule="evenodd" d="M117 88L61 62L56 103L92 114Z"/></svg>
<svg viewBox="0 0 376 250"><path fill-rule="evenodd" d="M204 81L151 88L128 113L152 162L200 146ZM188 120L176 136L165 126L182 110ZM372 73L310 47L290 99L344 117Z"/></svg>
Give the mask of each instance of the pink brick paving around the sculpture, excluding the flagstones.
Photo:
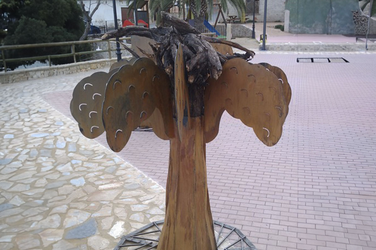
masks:
<svg viewBox="0 0 376 250"><path fill-rule="evenodd" d="M227 113L207 144L213 217L237 225L258 249L376 249L376 55L329 55L350 63L297 57L310 55L253 60L279 66L291 84L277 145L266 147ZM70 116L70 95L45 99ZM97 141L106 145L103 135ZM118 155L165 186L168 148L153 133L133 132Z"/></svg>

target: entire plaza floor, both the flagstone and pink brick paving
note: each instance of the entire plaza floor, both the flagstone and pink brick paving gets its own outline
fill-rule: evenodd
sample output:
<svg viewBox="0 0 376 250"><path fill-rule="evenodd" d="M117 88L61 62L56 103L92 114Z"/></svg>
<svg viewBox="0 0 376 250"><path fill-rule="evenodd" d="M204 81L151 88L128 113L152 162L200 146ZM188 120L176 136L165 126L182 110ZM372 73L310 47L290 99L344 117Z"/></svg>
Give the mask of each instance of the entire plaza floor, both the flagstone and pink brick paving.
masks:
<svg viewBox="0 0 376 250"><path fill-rule="evenodd" d="M350 63L296 61L311 56ZM264 61L292 88L284 132L266 147L223 115L206 148L213 219L259 250L375 250L376 54ZM112 249L163 218L168 141L133 132L115 154L70 120L74 86L96 71L0 85L0 249Z"/></svg>

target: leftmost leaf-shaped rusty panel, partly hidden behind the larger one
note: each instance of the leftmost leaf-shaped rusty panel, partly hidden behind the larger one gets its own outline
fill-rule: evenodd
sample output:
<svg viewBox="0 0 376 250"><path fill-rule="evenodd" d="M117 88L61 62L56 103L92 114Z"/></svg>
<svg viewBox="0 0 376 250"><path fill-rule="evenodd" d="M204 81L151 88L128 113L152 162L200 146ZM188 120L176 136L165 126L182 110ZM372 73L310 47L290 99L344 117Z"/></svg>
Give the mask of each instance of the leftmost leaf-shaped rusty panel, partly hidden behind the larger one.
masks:
<svg viewBox="0 0 376 250"><path fill-rule="evenodd" d="M102 123L102 104L106 83L113 73L115 71L96 72L83 78L73 90L70 110L78 122L81 133L87 138L96 138L105 131Z"/></svg>

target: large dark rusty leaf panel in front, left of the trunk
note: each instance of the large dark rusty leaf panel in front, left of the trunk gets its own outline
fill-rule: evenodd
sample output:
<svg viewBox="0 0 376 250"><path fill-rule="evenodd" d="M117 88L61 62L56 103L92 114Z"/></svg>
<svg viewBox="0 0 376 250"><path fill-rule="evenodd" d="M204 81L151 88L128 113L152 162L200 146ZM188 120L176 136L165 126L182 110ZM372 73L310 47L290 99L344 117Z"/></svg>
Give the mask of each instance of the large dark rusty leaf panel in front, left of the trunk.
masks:
<svg viewBox="0 0 376 250"><path fill-rule="evenodd" d="M150 122L153 129L158 133L164 131L164 138L172 137L169 82L164 70L149 58L139 58L133 65L124 65L111 76L106 86L102 118L112 150L123 149L132 130L149 118L156 121L155 124ZM152 116L156 108L160 112ZM158 114L161 115L158 117ZM157 128L157 124L163 124L164 128Z"/></svg>

